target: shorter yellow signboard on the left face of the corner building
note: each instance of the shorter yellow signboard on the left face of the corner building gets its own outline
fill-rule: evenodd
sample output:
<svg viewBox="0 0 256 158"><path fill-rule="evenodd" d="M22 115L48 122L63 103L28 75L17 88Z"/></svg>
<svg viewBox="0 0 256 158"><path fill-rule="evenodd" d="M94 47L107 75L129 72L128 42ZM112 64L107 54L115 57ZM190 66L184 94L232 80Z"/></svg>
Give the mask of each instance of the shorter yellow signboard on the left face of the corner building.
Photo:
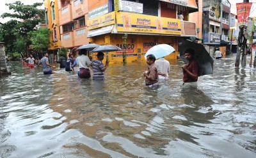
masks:
<svg viewBox="0 0 256 158"><path fill-rule="evenodd" d="M102 28L103 26L109 26L115 24L115 12L106 13L100 17L95 17L88 20L87 29L97 29Z"/></svg>

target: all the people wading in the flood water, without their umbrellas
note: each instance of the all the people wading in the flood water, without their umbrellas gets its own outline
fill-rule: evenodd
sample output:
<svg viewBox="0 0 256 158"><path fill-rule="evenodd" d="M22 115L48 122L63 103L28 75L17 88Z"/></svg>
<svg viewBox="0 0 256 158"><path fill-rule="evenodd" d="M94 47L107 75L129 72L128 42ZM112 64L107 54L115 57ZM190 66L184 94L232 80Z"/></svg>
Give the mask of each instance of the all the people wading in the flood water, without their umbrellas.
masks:
<svg viewBox="0 0 256 158"><path fill-rule="evenodd" d="M87 56L86 50L79 51L79 56L73 60L72 54L68 54L68 59L66 60L63 56L61 56L56 62L60 63L60 68L65 68L67 72L74 71L74 67L77 66L77 75L80 78L90 78L91 73L90 69L93 71L92 79L104 79L104 72L108 68L109 61L106 60L106 64L102 63L104 59L104 53L98 52L97 59L91 61ZM54 65L49 64L48 52L43 52L44 57L40 60L33 58L32 55L28 59L29 67L33 67L34 61L38 65L38 67L43 67L44 74L55 74L55 72L51 68L55 68ZM196 81L198 80L198 63L193 58L195 51L193 49L187 49L185 51L185 58L188 59L188 63L182 65L183 71L183 84L182 86L195 87ZM143 73L145 77L145 84L148 87L156 87L157 83L160 80L168 79L168 73L170 72L170 62L166 59L159 58L156 60L156 57L153 54L149 54L147 56L147 64L148 70Z"/></svg>

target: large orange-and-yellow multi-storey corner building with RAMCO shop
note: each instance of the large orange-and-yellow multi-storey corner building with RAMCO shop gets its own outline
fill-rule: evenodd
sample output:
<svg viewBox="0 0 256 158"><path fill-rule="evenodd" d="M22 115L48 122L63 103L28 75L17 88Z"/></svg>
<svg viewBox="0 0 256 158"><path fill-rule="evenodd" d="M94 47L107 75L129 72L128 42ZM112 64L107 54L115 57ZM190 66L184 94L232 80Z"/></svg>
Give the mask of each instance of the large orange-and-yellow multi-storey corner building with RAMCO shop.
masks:
<svg viewBox="0 0 256 158"><path fill-rule="evenodd" d="M148 49L161 43L175 48L167 58L176 59L177 43L202 32L198 0L58 0L58 12L61 46L72 52L86 43L117 45L125 50L127 62L140 61ZM107 56L110 62L123 59L122 51Z"/></svg>

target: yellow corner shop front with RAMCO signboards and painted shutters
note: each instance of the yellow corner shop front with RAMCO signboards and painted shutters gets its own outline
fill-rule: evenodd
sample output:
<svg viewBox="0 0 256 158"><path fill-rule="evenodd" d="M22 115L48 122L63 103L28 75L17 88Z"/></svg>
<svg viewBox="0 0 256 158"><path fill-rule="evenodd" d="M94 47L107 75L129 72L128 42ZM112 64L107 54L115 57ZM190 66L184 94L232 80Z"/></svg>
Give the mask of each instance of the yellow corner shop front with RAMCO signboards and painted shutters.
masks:
<svg viewBox="0 0 256 158"><path fill-rule="evenodd" d="M106 25L108 23L108 25ZM144 55L154 45L166 43L175 48L175 53L166 59L178 56L178 38L181 35L179 19L169 19L128 12L111 12L88 21L90 43L116 45L122 51L106 52L110 63L144 61ZM126 44L124 35L127 35ZM97 53L93 53L93 59ZM105 58L106 59L106 58Z"/></svg>

